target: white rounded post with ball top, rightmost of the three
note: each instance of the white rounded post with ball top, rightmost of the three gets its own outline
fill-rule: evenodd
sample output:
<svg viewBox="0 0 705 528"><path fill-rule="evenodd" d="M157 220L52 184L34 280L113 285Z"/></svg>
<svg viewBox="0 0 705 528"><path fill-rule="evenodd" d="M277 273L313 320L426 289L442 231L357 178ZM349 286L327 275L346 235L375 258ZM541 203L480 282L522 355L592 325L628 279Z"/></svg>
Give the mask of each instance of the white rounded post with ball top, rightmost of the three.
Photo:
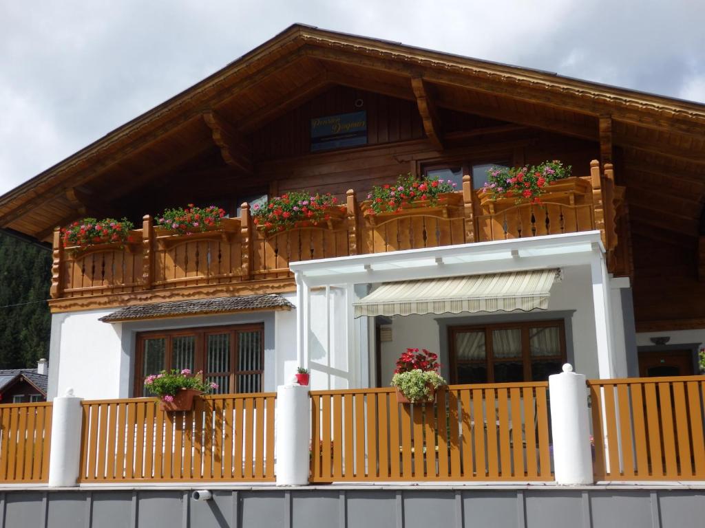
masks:
<svg viewBox="0 0 705 528"><path fill-rule="evenodd" d="M585 377L572 372L572 366L566 363L563 372L548 376L548 391L556 484L592 484Z"/></svg>

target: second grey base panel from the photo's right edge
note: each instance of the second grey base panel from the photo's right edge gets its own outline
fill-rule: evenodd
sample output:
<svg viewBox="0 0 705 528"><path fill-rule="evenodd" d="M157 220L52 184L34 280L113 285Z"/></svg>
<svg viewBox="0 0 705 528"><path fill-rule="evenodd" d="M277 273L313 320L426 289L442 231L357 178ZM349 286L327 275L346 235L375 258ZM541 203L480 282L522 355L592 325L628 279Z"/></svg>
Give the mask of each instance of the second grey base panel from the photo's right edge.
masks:
<svg viewBox="0 0 705 528"><path fill-rule="evenodd" d="M596 528L651 528L651 526L658 526L658 524L651 523L649 490L595 491L591 493L590 509L592 525ZM680 525L677 526L680 527Z"/></svg>

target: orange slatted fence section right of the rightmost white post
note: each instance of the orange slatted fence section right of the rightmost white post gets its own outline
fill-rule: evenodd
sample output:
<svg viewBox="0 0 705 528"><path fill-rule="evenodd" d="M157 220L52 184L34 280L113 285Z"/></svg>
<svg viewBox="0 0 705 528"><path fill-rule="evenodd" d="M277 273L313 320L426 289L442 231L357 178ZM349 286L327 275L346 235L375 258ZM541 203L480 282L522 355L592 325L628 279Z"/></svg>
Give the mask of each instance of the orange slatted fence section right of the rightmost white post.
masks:
<svg viewBox="0 0 705 528"><path fill-rule="evenodd" d="M596 480L705 480L705 376L588 386Z"/></svg>

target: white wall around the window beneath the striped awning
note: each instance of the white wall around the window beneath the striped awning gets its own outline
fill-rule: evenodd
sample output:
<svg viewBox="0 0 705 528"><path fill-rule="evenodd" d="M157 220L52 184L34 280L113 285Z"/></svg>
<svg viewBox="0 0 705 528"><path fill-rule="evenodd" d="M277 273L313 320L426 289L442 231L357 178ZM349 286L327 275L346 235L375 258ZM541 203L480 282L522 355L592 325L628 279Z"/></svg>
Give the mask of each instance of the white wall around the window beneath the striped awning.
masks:
<svg viewBox="0 0 705 528"><path fill-rule="evenodd" d="M597 377L592 283L588 266L563 268L563 280L554 283L551 289L548 310L534 310L534 313L544 313L545 319L548 320L556 318L555 315L551 315L552 312L559 311L573 311L571 327L575 370L587 377ZM448 351L441 350L441 330L436 320L443 319L450 322L454 318L462 318L462 324L468 324L468 318L507 316L507 320L510 320L510 317L521 318L520 314L522 312L395 316L392 323L393 341L381 344L381 382L386 385L391 381L394 363L406 348L427 348L431 352L439 353L439 360L443 365L441 374L448 377Z"/></svg>

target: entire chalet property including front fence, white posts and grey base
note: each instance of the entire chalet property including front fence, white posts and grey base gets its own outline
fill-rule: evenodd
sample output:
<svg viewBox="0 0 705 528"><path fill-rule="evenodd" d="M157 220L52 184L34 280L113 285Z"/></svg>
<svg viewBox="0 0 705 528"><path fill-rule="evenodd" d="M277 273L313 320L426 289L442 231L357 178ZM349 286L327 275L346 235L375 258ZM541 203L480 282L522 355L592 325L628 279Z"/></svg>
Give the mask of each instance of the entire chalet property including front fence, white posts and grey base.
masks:
<svg viewBox="0 0 705 528"><path fill-rule="evenodd" d="M0 525L694 526L702 489L603 484L705 480L704 198L703 104L293 25L0 196L54 255L49 401L0 406L0 483L84 486L0 490ZM217 221L163 220L188 204ZM133 226L68 236L104 218ZM434 406L393 399L407 348ZM144 397L185 368L216 394ZM275 480L486 486L233 488Z"/></svg>

